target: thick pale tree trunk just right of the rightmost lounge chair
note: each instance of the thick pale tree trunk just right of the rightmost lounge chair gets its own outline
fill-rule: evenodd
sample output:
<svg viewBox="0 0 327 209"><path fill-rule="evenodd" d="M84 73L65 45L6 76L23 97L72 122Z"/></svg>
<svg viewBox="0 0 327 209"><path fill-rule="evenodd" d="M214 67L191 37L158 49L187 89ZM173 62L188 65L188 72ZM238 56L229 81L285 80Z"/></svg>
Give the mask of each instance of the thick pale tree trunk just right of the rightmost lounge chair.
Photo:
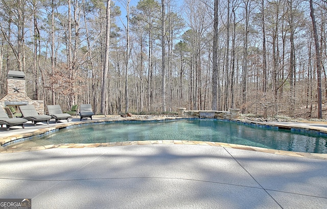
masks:
<svg viewBox="0 0 327 209"><path fill-rule="evenodd" d="M109 73L109 49L110 49L110 3L111 0L107 0L106 8L106 45L105 45L105 57L104 57L104 69L102 76L102 90L101 90L101 110L104 115L107 114L107 88L108 88L108 73Z"/></svg>

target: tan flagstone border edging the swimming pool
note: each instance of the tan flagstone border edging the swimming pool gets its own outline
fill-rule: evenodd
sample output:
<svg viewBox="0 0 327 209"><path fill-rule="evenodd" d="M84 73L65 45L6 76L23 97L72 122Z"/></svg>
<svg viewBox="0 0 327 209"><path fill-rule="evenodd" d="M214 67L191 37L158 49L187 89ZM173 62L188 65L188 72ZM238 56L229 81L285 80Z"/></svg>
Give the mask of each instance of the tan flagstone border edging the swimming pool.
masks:
<svg viewBox="0 0 327 209"><path fill-rule="evenodd" d="M284 150L276 150L276 149L268 149L261 147L253 147L247 145L238 145L238 144L228 144L222 142L207 142L207 141L185 141L185 140L150 140L150 141L126 141L126 142L108 142L108 143L87 143L87 144L58 144L58 145L45 145L45 146L37 146L37 147L10 147L6 148L2 146L3 144L10 143L15 141L19 142L19 139L26 139L30 137L35 137L37 135L43 136L44 134L50 134L52 132L58 131L61 128L69 128L69 126L79 126L83 124L92 124L92 123L103 123L103 122L119 122L119 121L164 121L164 120L178 120L178 119L198 119L194 117L148 117L148 118L102 118L97 120L84 120L84 121L71 121L68 123L56 123L52 124L50 127L41 127L40 129L34 130L33 132L27 132L24 134L16 134L9 137L0 138L0 153L14 153L14 152L25 152L25 151L36 151L36 150L44 150L44 149L53 149L53 148L92 148L92 147L110 147L110 146L127 146L127 145L160 145L160 144L183 144L183 145L204 145L204 146L220 146L225 148L233 148L233 149L243 149L250 151L259 151L271 154L279 154L279 155L287 155L287 156L296 156L300 158L311 158L311 159L321 159L327 160L327 154L320 153L309 153L309 152L294 152L294 151L284 151ZM311 127L306 124L277 124L274 122L259 122L259 121L250 121L243 119L235 119L235 120L226 120L223 121L233 121L244 123L248 125L259 125L262 127L268 128L281 128L281 129L289 129L295 130L299 132L310 132L315 131L324 134L327 134L327 128L323 127Z"/></svg>

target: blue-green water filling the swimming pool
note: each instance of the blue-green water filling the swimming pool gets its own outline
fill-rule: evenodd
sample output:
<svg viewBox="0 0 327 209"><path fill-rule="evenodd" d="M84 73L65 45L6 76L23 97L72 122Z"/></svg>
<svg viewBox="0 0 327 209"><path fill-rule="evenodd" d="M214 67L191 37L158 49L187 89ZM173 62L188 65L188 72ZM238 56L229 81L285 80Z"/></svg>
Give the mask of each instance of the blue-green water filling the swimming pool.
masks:
<svg viewBox="0 0 327 209"><path fill-rule="evenodd" d="M63 128L29 141L38 145L49 145L143 140L211 141L287 151L327 153L327 137L318 132L302 133L220 120L106 122Z"/></svg>

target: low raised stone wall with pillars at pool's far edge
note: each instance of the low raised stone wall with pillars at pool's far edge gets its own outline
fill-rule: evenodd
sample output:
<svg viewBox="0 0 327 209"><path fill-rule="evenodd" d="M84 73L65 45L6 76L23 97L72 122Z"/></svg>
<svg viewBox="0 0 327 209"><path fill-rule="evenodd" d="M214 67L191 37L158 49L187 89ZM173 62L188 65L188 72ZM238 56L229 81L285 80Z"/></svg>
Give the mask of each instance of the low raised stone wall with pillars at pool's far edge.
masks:
<svg viewBox="0 0 327 209"><path fill-rule="evenodd" d="M200 112L215 113L217 119L234 120L239 118L240 109L229 109L229 111L213 111L213 110L186 110L186 108L177 108L180 117L200 117Z"/></svg>

